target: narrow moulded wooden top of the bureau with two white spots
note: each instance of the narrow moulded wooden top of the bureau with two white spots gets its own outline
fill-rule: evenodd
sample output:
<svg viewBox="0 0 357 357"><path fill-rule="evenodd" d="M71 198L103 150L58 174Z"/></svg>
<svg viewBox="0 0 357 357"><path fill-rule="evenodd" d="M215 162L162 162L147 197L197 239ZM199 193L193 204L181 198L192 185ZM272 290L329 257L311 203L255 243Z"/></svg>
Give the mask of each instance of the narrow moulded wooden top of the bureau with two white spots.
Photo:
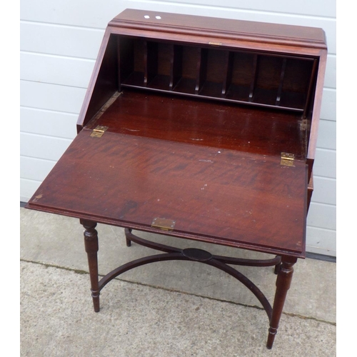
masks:
<svg viewBox="0 0 357 357"><path fill-rule="evenodd" d="M146 19L144 16L149 16ZM156 16L160 16L158 21ZM255 41L268 46L289 46L326 49L325 34L321 29L306 26L268 24L253 21L217 19L213 17L169 14L159 11L126 9L116 16L109 26L119 29L151 30L178 36L216 36L234 41Z"/></svg>

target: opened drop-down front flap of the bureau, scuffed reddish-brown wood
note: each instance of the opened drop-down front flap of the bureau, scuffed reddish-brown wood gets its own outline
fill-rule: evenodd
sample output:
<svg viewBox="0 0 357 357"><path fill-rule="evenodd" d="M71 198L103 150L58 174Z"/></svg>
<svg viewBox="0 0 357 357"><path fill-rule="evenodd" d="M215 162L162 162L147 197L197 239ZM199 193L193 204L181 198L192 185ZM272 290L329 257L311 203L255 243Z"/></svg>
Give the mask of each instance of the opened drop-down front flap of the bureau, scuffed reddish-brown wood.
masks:
<svg viewBox="0 0 357 357"><path fill-rule="evenodd" d="M174 235L303 256L304 161L288 167L277 156L90 134L69 146L32 208L146 231L158 231L154 218L169 218Z"/></svg>

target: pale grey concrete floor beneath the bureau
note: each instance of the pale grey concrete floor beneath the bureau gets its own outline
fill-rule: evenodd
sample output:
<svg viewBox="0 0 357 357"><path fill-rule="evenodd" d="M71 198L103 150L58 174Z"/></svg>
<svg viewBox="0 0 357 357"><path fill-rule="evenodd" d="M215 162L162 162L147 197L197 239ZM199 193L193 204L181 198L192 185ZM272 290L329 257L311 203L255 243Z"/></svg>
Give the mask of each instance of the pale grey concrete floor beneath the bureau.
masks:
<svg viewBox="0 0 357 357"><path fill-rule="evenodd" d="M255 296L205 264L169 261L124 273L101 291L101 311L94 313L79 221L25 208L20 213L21 356L336 356L336 263L311 258L296 263L268 350L268 318ZM155 252L135 243L126 247L122 228L97 230L102 275ZM266 256L141 236L221 255ZM238 269L273 301L271 267Z"/></svg>

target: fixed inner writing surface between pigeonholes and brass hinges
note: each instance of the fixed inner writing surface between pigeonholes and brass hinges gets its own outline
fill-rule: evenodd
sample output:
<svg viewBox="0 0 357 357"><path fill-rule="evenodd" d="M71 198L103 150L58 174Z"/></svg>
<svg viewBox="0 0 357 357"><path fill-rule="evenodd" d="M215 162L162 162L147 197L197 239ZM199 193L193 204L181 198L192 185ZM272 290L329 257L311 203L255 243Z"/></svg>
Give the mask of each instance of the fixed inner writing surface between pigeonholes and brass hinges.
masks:
<svg viewBox="0 0 357 357"><path fill-rule="evenodd" d="M126 89L86 128L218 149L305 159L301 114Z"/></svg>

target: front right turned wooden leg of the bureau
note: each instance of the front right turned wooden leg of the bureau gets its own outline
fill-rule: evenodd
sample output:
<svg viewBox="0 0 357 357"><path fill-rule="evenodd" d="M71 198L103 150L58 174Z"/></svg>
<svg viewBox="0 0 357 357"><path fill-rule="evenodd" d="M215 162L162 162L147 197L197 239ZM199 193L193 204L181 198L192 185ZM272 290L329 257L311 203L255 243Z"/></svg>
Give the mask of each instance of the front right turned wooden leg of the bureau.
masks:
<svg viewBox="0 0 357 357"><path fill-rule="evenodd" d="M273 347L274 338L278 331L286 294L290 288L291 278L293 278L293 265L296 263L296 260L296 258L283 257L281 261L281 266L276 278L276 293L273 303L273 312L271 314L268 341L266 343L266 347L269 349Z"/></svg>

